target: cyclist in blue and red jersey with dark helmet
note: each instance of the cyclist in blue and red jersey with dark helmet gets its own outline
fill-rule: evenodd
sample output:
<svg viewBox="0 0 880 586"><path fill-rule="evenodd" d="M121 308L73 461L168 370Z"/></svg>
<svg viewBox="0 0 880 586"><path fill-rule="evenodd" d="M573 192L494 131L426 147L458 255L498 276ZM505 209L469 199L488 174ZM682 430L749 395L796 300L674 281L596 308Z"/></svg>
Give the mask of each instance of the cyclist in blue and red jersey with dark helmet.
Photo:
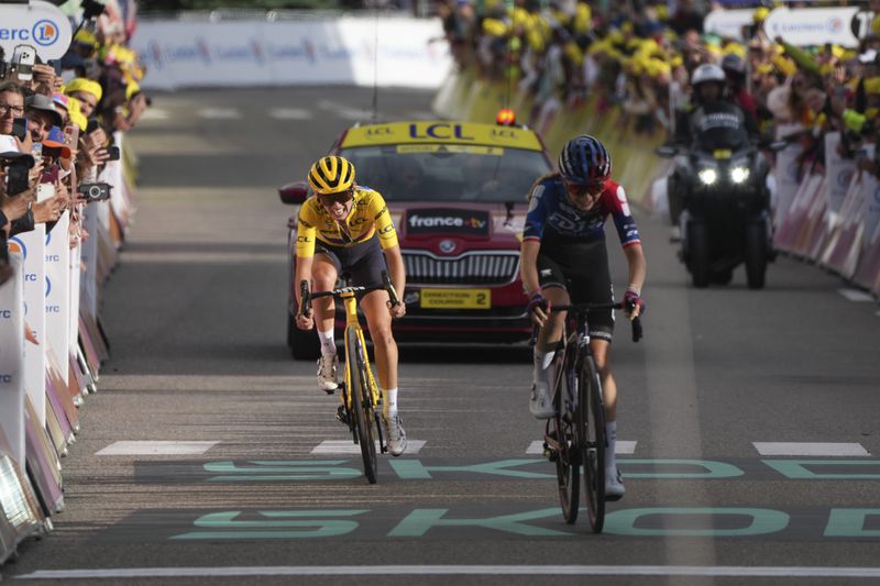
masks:
<svg viewBox="0 0 880 586"><path fill-rule="evenodd" d="M605 221L610 215L629 264L629 286L624 294L627 317L641 311L641 287L647 264L638 228L624 188L610 179L612 157L593 136L580 135L565 145L559 172L538 179L529 192L529 211L522 232L520 272L529 297L532 321L540 327L535 346L535 379L529 409L538 419L554 414L550 364L562 339L565 312L554 305L610 303L614 300ZM587 313L590 346L602 378L608 449L605 494L624 495L614 454L617 436L617 386L608 363L614 332L610 309Z"/></svg>

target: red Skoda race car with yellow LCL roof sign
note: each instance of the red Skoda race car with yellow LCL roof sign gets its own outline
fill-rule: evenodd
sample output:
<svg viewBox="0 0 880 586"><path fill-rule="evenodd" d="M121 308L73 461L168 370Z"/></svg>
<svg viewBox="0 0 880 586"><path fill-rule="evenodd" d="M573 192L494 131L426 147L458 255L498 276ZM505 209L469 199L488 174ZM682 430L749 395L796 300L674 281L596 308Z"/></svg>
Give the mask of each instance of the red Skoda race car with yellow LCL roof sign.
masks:
<svg viewBox="0 0 880 586"><path fill-rule="evenodd" d="M354 164L356 183L385 198L406 266L406 316L400 342L518 342L529 338L519 279L526 196L551 170L538 135L528 129L418 121L356 125L331 148ZM279 189L300 204L305 181ZM298 208L297 208L298 211ZM294 316L297 214L289 221L287 343L296 358L318 356L315 332ZM337 327L344 325L338 316Z"/></svg>

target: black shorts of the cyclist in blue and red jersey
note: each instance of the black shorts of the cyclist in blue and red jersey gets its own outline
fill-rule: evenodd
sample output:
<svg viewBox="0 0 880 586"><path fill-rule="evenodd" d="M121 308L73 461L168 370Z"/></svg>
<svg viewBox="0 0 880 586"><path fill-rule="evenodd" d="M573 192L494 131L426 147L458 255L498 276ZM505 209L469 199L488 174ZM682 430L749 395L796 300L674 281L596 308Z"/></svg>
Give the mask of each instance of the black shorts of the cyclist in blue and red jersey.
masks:
<svg viewBox="0 0 880 586"><path fill-rule="evenodd" d="M610 303L614 287L608 270L605 240L566 243L551 240L538 252L538 279L541 288L562 287L572 303ZM594 309L587 312L591 338L612 341L614 310Z"/></svg>

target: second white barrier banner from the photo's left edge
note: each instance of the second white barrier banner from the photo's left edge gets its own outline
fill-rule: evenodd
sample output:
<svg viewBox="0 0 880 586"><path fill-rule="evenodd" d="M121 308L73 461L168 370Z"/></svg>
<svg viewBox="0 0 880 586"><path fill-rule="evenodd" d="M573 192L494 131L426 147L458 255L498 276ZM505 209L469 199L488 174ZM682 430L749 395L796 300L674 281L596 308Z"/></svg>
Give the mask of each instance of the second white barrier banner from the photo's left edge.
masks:
<svg viewBox="0 0 880 586"><path fill-rule="evenodd" d="M21 254L24 281L24 321L31 328L37 344L24 344L24 387L31 405L46 424L46 224L36 224L9 240L11 252Z"/></svg>

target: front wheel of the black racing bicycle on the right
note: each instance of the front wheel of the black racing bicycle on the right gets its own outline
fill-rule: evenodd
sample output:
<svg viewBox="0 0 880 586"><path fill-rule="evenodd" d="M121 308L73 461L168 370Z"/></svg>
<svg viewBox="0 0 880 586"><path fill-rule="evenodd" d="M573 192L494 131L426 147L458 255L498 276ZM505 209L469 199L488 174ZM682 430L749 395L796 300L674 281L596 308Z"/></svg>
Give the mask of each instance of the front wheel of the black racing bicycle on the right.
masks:
<svg viewBox="0 0 880 586"><path fill-rule="evenodd" d="M584 499L594 533L602 533L605 524L605 411L602 402L602 384L593 356L584 356L578 384L583 431L582 457L584 465Z"/></svg>

